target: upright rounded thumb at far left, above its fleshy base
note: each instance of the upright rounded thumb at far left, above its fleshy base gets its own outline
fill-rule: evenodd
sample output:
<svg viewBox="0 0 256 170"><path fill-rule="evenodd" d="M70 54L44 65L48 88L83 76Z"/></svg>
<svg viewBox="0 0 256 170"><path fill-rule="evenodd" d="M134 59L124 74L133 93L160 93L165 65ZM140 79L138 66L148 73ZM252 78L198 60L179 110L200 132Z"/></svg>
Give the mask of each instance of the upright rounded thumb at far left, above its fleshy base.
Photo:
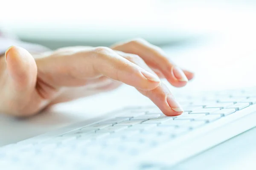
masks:
<svg viewBox="0 0 256 170"><path fill-rule="evenodd" d="M32 55L24 48L11 46L6 50L5 57L8 86L19 92L32 91L37 77L37 66Z"/></svg>

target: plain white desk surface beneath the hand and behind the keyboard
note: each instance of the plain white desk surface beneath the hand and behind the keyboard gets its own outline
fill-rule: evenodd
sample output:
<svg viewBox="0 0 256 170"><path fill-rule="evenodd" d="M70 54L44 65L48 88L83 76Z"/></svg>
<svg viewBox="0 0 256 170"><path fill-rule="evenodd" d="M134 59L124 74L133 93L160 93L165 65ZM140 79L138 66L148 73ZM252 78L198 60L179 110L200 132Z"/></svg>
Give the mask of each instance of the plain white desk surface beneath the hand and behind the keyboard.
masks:
<svg viewBox="0 0 256 170"><path fill-rule="evenodd" d="M180 48L165 48L169 56L179 65L196 73L195 80L185 88L178 89L169 85L172 91L227 89L256 85L256 79L253 77L256 71L255 45L245 43L248 40L244 39L237 42L230 38L217 40ZM15 119L1 114L0 146L102 116L124 106L148 105L149 102L149 99L140 95L134 88L123 85L116 91L55 105L29 119Z"/></svg>

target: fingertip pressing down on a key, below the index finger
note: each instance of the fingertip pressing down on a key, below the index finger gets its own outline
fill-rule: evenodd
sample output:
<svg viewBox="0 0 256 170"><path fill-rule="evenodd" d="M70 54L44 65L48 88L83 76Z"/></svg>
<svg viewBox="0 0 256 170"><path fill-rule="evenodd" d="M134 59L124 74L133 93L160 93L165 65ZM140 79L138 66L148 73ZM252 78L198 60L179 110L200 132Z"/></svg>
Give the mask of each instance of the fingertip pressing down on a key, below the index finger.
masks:
<svg viewBox="0 0 256 170"><path fill-rule="evenodd" d="M166 116L177 116L183 112L183 108L163 82L151 91L143 91L140 89L139 91L141 94L151 99Z"/></svg>

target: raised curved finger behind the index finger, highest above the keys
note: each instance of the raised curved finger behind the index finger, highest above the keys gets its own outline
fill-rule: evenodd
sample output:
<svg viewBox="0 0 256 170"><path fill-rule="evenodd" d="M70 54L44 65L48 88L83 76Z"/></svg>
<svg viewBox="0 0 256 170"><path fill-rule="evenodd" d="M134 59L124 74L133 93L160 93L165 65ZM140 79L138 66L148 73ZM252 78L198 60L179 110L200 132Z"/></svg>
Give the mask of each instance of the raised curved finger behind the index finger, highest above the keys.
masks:
<svg viewBox="0 0 256 170"><path fill-rule="evenodd" d="M168 59L163 50L141 39L125 42L112 47L114 50L137 54L151 67L159 69L166 79L176 87L186 85L188 81L184 72Z"/></svg>

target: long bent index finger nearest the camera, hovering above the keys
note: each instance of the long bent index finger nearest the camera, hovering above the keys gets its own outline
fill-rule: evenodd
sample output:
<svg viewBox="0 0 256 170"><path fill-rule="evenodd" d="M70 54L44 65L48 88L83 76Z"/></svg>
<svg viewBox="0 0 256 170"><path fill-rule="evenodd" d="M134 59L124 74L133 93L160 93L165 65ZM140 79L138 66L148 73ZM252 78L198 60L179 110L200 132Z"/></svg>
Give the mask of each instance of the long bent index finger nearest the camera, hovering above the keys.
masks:
<svg viewBox="0 0 256 170"><path fill-rule="evenodd" d="M58 56L60 55L60 56ZM37 60L38 74L54 86L81 86L88 79L104 75L125 84L151 90L160 79L116 54L110 48L98 47L76 53L53 54Z"/></svg>

